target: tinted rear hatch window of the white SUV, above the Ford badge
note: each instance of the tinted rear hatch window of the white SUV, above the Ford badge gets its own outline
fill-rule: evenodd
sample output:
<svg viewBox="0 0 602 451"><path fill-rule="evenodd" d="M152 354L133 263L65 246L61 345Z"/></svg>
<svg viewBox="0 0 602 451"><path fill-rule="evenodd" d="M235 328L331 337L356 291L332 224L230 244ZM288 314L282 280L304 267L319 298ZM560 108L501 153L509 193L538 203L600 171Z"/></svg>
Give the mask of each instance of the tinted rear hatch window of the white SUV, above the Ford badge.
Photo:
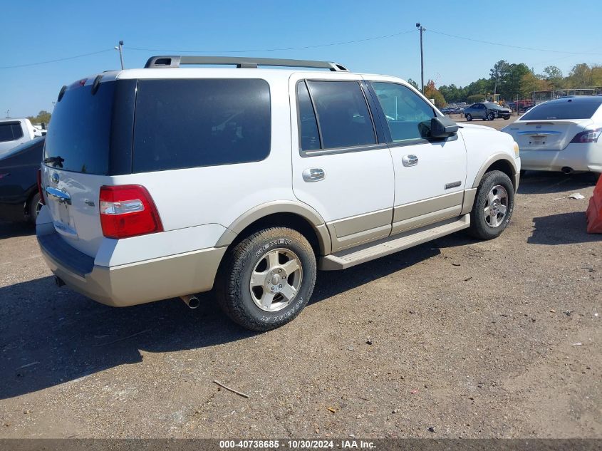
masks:
<svg viewBox="0 0 602 451"><path fill-rule="evenodd" d="M73 172L105 175L108 172L110 125L115 82L73 84L56 103L46 134L45 158L53 167Z"/></svg>

